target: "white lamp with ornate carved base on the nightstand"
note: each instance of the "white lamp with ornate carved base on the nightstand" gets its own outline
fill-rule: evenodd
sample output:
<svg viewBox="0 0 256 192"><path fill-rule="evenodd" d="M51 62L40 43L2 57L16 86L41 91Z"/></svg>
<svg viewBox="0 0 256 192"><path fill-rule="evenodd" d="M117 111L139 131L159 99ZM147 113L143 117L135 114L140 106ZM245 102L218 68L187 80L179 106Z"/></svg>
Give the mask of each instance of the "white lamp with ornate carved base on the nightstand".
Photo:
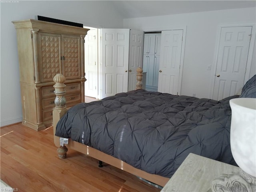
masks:
<svg viewBox="0 0 256 192"><path fill-rule="evenodd" d="M256 191L256 98L230 100L230 147L239 173L222 174L212 181L214 192Z"/></svg>

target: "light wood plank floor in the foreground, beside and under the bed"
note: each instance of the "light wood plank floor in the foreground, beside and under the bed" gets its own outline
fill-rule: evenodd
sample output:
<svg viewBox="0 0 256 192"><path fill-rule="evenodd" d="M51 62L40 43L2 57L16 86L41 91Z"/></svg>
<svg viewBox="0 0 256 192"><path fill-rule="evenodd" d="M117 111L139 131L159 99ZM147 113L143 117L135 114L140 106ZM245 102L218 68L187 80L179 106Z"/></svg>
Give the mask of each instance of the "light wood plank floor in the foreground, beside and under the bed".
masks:
<svg viewBox="0 0 256 192"><path fill-rule="evenodd" d="M159 192L136 176L74 150L60 160L52 127L35 131L21 123L0 129L1 179L18 192Z"/></svg>

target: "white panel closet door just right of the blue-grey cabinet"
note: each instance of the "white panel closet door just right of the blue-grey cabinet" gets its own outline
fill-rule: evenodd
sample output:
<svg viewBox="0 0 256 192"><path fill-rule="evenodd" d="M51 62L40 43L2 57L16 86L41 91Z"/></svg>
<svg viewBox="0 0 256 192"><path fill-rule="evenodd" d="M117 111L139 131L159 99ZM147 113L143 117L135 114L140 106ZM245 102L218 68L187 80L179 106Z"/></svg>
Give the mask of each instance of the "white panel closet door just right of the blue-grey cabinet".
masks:
<svg viewBox="0 0 256 192"><path fill-rule="evenodd" d="M183 30L162 31L158 92L178 94Z"/></svg>

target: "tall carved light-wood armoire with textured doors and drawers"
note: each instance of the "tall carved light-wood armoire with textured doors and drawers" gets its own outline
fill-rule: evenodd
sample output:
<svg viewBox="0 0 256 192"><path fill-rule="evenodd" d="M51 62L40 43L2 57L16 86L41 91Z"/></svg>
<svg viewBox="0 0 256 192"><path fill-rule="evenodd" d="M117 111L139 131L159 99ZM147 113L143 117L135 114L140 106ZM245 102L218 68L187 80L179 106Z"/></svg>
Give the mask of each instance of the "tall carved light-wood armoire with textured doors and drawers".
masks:
<svg viewBox="0 0 256 192"><path fill-rule="evenodd" d="M84 36L88 29L40 20L12 22L20 64L22 124L42 130L52 124L56 74L66 77L66 105L84 102Z"/></svg>

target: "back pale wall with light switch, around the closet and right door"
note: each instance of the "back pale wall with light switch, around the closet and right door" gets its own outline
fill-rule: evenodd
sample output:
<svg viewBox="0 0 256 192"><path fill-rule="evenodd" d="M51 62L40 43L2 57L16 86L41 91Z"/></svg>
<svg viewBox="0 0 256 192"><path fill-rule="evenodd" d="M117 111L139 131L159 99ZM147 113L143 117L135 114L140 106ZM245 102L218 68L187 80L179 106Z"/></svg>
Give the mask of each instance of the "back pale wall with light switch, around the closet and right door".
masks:
<svg viewBox="0 0 256 192"><path fill-rule="evenodd" d="M124 19L124 28L145 31L187 26L181 94L192 96L195 93L199 98L211 98L218 26L222 24L255 24L255 12L254 7L132 18ZM255 31L252 34L255 35ZM256 74L255 63L254 52L250 77ZM211 65L211 70L207 70L208 65Z"/></svg>

